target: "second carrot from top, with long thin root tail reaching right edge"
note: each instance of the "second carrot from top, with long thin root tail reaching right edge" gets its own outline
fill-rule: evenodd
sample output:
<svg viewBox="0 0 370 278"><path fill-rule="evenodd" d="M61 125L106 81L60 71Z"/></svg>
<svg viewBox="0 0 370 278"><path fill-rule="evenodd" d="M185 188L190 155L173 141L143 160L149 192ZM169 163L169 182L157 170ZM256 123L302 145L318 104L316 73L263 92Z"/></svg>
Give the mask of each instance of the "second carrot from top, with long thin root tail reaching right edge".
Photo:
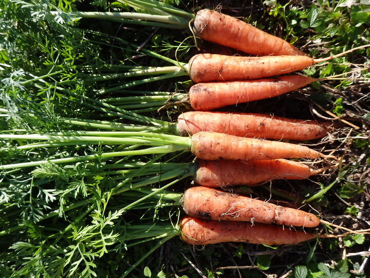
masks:
<svg viewBox="0 0 370 278"><path fill-rule="evenodd" d="M331 60L368 46L370 45L355 47L343 53L322 59L292 55L241 57L197 54L190 59L189 63L184 66L184 69L196 83L260 79L300 71L313 64Z"/></svg>

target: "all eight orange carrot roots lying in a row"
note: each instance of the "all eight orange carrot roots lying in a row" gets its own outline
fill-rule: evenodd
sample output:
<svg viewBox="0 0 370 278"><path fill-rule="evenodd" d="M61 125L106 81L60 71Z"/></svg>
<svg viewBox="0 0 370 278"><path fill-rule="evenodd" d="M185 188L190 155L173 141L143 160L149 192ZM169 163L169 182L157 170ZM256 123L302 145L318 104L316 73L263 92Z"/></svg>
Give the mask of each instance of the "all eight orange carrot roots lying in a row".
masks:
<svg viewBox="0 0 370 278"><path fill-rule="evenodd" d="M145 6L136 0L123 2L133 7ZM178 62L178 71L186 73L196 83L189 91L191 107L196 112L181 114L176 132L191 136L189 148L198 159L194 182L201 185L189 188L181 199L187 214L180 222L182 240L195 245L223 241L275 245L296 244L317 237L316 234L284 230L282 226L271 224L316 227L321 221L313 214L212 187L252 186L272 179L304 179L315 175L322 170L311 170L302 163L286 159L336 158L299 144L268 141L266 138L313 140L325 136L332 129L331 123L210 110L278 96L320 81L322 79L302 75L281 75L345 55L357 48L336 56L313 59L288 42L231 16L207 9L194 16L154 0L148 3L148 6L153 4L163 8L164 14L168 11L173 13L170 14L174 22L158 20L167 24L162 27L186 28L188 21L193 24L195 36L258 56L198 54L187 64ZM77 15L97 17L86 12ZM130 14L112 13L110 16L118 20L130 17ZM144 20L155 20L139 13L136 16L136 19L143 16L140 24L144 24ZM133 23L138 22L134 20ZM253 222L253 225L244 221Z"/></svg>

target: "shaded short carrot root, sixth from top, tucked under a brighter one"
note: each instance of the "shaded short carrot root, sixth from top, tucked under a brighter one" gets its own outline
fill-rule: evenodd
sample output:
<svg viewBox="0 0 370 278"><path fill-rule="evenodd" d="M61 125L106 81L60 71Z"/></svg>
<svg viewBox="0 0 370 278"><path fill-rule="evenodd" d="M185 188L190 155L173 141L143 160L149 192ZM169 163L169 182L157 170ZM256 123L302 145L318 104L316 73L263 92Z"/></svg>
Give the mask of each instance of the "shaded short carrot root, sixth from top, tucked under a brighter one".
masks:
<svg viewBox="0 0 370 278"><path fill-rule="evenodd" d="M286 159L201 160L193 180L208 187L255 186L270 180L303 180L315 175L307 165Z"/></svg>

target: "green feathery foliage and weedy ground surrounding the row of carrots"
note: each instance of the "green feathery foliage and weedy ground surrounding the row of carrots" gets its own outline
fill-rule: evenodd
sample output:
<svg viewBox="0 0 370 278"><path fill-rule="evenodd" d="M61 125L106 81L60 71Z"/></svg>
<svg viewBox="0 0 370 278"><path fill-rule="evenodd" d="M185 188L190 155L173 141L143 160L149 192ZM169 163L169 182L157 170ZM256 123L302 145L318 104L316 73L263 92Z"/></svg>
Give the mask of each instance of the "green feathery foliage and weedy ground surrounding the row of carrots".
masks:
<svg viewBox="0 0 370 278"><path fill-rule="evenodd" d="M139 66L169 66L169 63L158 59L158 55L176 60L174 45L179 45L179 42L191 36L190 33L178 30L88 19L79 20L79 29L70 28L65 24L68 18L57 17L58 21L55 21L45 9L45 5L48 5L52 10L67 12L76 9L128 10L121 2L109 3L110 6L104 1L95 1L95 5L92 3L40 1L35 2L36 5L28 5L26 2L0 4L0 15L6 19L0 23L0 29L7 34L0 41L0 114L5 115L0 118L0 126L3 131L16 130L18 134L33 134L81 129L120 130L118 126L127 129L129 125L140 125L148 120L155 129L162 124L161 120L175 119L179 112L186 109L183 105L175 105L160 113L145 111L142 113L147 118L144 118L127 113L127 107L116 109L90 101L96 97L96 91L115 88L121 81L104 79L102 82L87 82L84 81L86 74L89 78L91 74L110 74L112 66L128 66L119 70L115 68L113 73L136 71ZM191 13L193 11L190 8L216 8L219 4L215 1L166 3ZM220 4L221 11L244 16L247 22L287 39L310 56L326 57L368 44L370 40L370 13L365 5L348 1L286 4L276 1L253 4L236 1L232 6L229 1L221 1ZM84 29L93 29L95 33ZM105 37L96 33L103 30L109 30ZM136 52L137 48L133 44L141 46L142 50ZM187 39L186 44L189 47L177 53L181 61L187 61L197 53L192 39ZM215 47L207 42L199 42L199 46L205 52L234 53L234 50ZM149 51L153 51L154 56ZM363 49L324 65L313 66L304 73L324 77L363 68L363 72L353 73L350 77L369 78L366 70L369 57L370 49ZM124 81L136 80L141 80L141 77ZM138 84L132 90L185 91L190 84L186 77L178 77ZM102 99L119 97L121 94L107 92ZM128 94L136 96L137 93ZM271 113L291 118L331 118L336 125L336 131L329 136L305 144L333 152L340 158L338 165L307 181L274 181L264 187L237 188L238 192L279 204L302 207L319 214L324 220L350 229L368 229L368 95L367 81L331 80L307 86L274 100L261 100L223 109ZM130 105L131 100L126 100ZM105 122L99 121L101 115L104 115ZM125 118L120 118L122 116ZM68 118L77 118L79 121L72 124ZM0 269L5 276L120 277L155 244L158 244L158 249L135 266L130 275L286 275L303 278L324 275L365 277L364 273L369 272L366 263L366 252L369 250L366 235L346 235L339 240L314 240L298 246L224 243L204 248L184 245L178 238L159 238L147 242L135 237L131 239L133 241L124 238L124 235L128 235L130 224L134 225L138 220L176 223L180 211L170 202L148 197L135 203L138 195L131 194L128 189L144 185L147 180L155 183L158 188L168 185L172 190L182 192L183 187L190 183L186 168L178 169L177 173L166 172L168 180L159 178L149 168L156 162L190 162L192 158L189 155L179 153L172 157L143 154L104 159L103 153L133 151L137 146L127 143L121 147L103 142L96 145L81 143L77 146L63 142L64 145L49 148L24 147L24 150L20 150L14 146L30 142L17 138L17 141L1 143L1 165L45 158L52 160L86 155L96 158L94 161L75 161L67 165L49 161L38 167L8 169L0 173ZM122 163L126 166L118 168L122 171L116 172L118 175L106 172L107 167ZM127 166L134 164L136 166L132 168ZM123 190L126 194L117 194L117 190ZM332 230L325 226L318 231L342 233L339 229ZM135 240L140 240L140 244L134 245L137 242Z"/></svg>

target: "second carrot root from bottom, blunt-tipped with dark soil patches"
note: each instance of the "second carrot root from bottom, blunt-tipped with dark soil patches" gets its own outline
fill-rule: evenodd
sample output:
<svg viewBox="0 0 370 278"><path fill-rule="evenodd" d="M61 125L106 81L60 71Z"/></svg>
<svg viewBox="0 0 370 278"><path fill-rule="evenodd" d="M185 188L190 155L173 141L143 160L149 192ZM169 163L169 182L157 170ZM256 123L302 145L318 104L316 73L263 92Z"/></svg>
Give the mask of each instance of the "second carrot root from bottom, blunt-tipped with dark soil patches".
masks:
<svg viewBox="0 0 370 278"><path fill-rule="evenodd" d="M275 223L308 228L320 224L320 219L311 213L207 186L188 188L182 196L181 205L190 216L212 220Z"/></svg>

